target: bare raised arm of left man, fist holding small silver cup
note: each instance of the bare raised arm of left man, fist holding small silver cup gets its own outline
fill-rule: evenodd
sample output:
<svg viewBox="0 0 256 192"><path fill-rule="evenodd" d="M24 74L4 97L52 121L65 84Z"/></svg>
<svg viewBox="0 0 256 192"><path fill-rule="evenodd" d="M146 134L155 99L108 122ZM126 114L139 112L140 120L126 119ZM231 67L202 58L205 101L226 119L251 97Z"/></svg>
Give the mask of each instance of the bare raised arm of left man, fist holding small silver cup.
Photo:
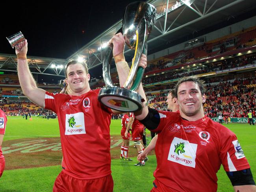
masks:
<svg viewBox="0 0 256 192"><path fill-rule="evenodd" d="M27 61L28 42L19 43L15 46L18 58L18 76L23 94L26 95L33 103L44 107L45 90L37 88L35 80L30 72Z"/></svg>

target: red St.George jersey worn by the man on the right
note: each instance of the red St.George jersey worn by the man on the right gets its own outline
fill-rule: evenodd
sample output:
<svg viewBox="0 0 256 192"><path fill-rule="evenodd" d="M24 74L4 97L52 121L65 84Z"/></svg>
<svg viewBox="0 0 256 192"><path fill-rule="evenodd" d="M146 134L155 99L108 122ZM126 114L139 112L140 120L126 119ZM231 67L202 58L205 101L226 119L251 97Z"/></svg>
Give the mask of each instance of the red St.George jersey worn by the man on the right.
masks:
<svg viewBox="0 0 256 192"><path fill-rule="evenodd" d="M216 173L250 168L237 137L207 116L187 121L179 113L159 111L154 177L165 191L217 191Z"/></svg>

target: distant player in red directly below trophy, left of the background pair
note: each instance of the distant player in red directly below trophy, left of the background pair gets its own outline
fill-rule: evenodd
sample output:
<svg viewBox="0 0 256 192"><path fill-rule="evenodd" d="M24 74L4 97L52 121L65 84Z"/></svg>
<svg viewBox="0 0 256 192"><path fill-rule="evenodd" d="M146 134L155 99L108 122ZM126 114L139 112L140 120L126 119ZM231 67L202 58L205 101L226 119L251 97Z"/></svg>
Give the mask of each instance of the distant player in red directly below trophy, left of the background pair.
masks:
<svg viewBox="0 0 256 192"><path fill-rule="evenodd" d="M120 159L124 159L126 161L132 161L132 159L128 157L128 151L129 151L130 138L131 138L130 129L131 129L134 118L130 117L129 114L130 114L129 112L123 114L122 129L121 129L122 146L121 146ZM126 129L128 131L125 137Z"/></svg>

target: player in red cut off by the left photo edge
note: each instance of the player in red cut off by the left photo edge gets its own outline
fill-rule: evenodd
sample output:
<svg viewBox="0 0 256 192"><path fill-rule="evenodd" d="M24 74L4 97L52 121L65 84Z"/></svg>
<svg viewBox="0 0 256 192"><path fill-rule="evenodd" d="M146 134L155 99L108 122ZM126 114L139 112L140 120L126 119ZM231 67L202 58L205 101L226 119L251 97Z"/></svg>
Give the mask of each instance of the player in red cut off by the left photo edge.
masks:
<svg viewBox="0 0 256 192"><path fill-rule="evenodd" d="M4 155L1 149L4 134L6 131L6 122L7 122L6 114L4 113L4 111L2 111L2 109L0 109L0 177L4 172L4 167L6 164L6 161L4 159Z"/></svg>

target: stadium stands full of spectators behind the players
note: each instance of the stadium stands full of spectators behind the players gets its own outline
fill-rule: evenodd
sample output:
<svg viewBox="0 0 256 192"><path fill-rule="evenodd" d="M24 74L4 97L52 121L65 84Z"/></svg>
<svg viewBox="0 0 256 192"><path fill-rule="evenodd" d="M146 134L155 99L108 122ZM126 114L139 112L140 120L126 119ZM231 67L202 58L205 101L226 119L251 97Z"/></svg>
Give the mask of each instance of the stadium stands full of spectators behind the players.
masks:
<svg viewBox="0 0 256 192"><path fill-rule="evenodd" d="M166 96L175 82L182 77L197 76L206 87L205 114L216 117L225 113L233 117L247 117L250 109L255 111L256 96L256 26L242 29L199 46L180 50L148 61L143 78L150 107L166 110ZM111 74L118 85L117 72ZM1 84L19 84L17 75L0 76ZM58 85L39 85L49 92L59 92ZM52 87L51 87L52 86ZM100 79L92 89L104 87ZM20 87L2 87L2 95L22 95ZM43 114L47 110L31 102L5 102L2 109L7 115L24 113ZM255 114L255 112L254 112Z"/></svg>

